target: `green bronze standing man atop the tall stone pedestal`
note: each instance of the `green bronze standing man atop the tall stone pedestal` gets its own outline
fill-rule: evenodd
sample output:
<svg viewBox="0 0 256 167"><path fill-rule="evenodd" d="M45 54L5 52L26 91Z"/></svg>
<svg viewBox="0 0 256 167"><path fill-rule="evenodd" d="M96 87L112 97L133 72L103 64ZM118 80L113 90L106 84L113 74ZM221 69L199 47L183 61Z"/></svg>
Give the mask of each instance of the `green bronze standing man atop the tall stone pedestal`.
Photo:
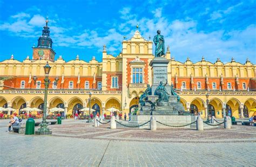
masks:
<svg viewBox="0 0 256 167"><path fill-rule="evenodd" d="M161 57L161 55L165 55L164 52L164 36L160 35L160 30L157 30L157 35L154 36L154 45L156 45L156 51L154 52L155 57Z"/></svg>

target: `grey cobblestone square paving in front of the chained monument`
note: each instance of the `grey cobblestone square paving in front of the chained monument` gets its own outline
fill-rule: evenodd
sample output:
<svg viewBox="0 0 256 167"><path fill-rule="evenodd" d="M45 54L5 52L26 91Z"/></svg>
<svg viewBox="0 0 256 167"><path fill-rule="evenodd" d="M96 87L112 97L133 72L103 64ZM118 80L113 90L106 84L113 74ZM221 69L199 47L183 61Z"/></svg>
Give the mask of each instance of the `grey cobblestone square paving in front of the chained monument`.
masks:
<svg viewBox="0 0 256 167"><path fill-rule="evenodd" d="M255 166L256 127L109 129L84 121L49 126L52 136L7 133L0 166Z"/></svg>

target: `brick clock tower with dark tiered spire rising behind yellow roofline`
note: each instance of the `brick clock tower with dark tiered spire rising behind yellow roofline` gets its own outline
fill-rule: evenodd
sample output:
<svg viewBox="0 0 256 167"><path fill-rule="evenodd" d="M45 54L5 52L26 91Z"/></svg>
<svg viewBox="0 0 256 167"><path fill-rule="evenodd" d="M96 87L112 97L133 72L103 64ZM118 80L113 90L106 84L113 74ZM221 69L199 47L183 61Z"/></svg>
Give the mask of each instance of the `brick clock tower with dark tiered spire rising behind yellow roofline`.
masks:
<svg viewBox="0 0 256 167"><path fill-rule="evenodd" d="M45 26L42 36L38 38L37 47L33 46L33 60L50 60L54 61L55 51L52 49L52 40L50 38L50 31L48 27L48 18L45 20Z"/></svg>

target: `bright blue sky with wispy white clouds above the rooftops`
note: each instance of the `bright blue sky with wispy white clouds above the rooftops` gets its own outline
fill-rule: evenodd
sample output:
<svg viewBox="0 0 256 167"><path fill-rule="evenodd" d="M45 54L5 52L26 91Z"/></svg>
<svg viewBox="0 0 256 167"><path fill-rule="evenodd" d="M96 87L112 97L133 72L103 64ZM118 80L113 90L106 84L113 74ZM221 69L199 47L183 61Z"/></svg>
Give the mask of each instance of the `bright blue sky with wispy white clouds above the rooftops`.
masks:
<svg viewBox="0 0 256 167"><path fill-rule="evenodd" d="M158 29L171 55L184 62L256 63L255 1L3 1L0 0L0 61L32 58L32 46L49 16L56 58L85 61L122 51L123 36L131 38L136 24L149 39Z"/></svg>

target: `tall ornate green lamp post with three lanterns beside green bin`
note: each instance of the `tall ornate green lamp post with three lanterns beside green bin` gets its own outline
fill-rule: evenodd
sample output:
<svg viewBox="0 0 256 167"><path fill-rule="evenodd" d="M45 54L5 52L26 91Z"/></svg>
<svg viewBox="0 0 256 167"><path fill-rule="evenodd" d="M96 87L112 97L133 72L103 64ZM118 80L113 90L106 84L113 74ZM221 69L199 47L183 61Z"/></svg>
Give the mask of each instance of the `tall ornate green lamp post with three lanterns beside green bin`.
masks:
<svg viewBox="0 0 256 167"><path fill-rule="evenodd" d="M49 87L49 84L50 84L50 79L49 79L49 73L50 73L50 70L51 70L51 66L49 66L48 62L46 63L46 65L44 66L44 73L45 73L45 78L44 78L44 113L43 113L43 121L42 123L40 124L40 128L36 131L36 135L51 135L52 134L52 131L50 131L49 128L47 128L47 122L46 122L46 105L47 105L47 95L48 95L48 87ZM59 78L56 77L55 78L55 81L56 81L56 84L58 82ZM33 81L34 81L34 84L36 85L36 82L37 82L37 77L36 76L33 76ZM53 83L55 84L55 83Z"/></svg>

